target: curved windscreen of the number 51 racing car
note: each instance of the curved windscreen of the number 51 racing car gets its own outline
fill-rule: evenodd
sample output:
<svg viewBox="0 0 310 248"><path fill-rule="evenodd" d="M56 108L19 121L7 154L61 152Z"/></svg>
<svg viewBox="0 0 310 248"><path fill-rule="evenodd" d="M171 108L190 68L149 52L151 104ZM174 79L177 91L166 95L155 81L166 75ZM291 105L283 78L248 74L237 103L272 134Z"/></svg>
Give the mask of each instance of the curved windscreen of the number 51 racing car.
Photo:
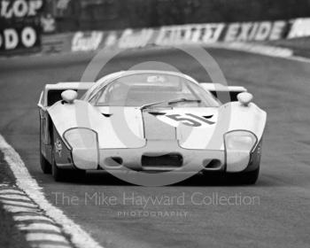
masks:
<svg viewBox="0 0 310 248"><path fill-rule="evenodd" d="M169 104L176 99L181 101ZM197 101L196 101L197 100ZM134 74L123 76L100 89L90 101L97 106L142 106L159 103L172 105L213 107L217 100L195 82L171 74Z"/></svg>

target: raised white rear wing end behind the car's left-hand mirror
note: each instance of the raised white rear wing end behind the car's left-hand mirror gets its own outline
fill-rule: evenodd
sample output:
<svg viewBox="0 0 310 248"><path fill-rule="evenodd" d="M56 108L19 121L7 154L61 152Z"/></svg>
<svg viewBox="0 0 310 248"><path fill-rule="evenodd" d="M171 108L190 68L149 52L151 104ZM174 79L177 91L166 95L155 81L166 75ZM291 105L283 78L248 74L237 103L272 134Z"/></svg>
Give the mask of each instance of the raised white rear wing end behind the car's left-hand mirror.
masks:
<svg viewBox="0 0 310 248"><path fill-rule="evenodd" d="M78 97L81 97L95 82L58 82L54 84L46 84L39 99L38 106L46 108L61 100L61 93L66 89L73 89L78 92Z"/></svg>

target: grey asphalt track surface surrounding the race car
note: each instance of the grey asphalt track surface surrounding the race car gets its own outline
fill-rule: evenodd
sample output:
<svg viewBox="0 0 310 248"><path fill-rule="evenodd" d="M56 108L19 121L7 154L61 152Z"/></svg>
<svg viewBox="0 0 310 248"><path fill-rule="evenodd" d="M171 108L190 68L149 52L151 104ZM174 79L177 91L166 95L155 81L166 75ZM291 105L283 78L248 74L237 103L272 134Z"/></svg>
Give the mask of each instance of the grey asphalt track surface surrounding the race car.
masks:
<svg viewBox="0 0 310 248"><path fill-rule="evenodd" d="M310 64L228 50L209 50L229 85L242 85L267 111L260 179L256 185L229 185L194 177L178 185L146 188L106 174L88 174L85 182L54 182L39 166L36 103L45 83L80 81L91 55L0 60L0 133L16 149L50 202L105 247L309 247L310 246ZM156 60L177 67L198 81L208 77L177 50L127 52L103 74ZM208 182L211 180L211 182ZM85 194L116 197L117 205L85 204ZM77 197L56 202L55 193ZM254 205L195 205L193 194L256 197ZM188 212L186 217L118 216L143 210L122 204L132 194L185 196L184 205L154 204L150 212Z"/></svg>

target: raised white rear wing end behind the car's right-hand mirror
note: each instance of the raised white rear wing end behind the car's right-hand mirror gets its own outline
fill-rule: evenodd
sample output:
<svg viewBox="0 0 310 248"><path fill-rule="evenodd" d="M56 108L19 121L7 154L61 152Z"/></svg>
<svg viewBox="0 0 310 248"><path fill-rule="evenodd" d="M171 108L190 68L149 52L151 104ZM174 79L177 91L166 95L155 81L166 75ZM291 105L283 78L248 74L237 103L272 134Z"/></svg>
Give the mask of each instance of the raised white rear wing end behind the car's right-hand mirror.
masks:
<svg viewBox="0 0 310 248"><path fill-rule="evenodd" d="M220 95L221 93L229 92L230 102L237 101L236 96L241 92L247 91L247 89L245 89L243 86L225 86L225 85L222 85L221 83L201 82L200 85L202 86L202 88L210 91L214 97L219 97L218 95ZM225 97L222 97L222 98L225 98Z"/></svg>

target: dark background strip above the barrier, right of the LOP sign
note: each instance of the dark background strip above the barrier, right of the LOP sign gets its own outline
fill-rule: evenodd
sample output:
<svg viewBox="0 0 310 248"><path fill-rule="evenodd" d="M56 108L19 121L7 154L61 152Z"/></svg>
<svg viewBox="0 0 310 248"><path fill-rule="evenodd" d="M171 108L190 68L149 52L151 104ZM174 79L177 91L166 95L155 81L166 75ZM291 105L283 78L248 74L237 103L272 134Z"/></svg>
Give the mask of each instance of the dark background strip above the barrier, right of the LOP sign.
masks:
<svg viewBox="0 0 310 248"><path fill-rule="evenodd" d="M46 0L57 31L310 16L310 0Z"/></svg>

